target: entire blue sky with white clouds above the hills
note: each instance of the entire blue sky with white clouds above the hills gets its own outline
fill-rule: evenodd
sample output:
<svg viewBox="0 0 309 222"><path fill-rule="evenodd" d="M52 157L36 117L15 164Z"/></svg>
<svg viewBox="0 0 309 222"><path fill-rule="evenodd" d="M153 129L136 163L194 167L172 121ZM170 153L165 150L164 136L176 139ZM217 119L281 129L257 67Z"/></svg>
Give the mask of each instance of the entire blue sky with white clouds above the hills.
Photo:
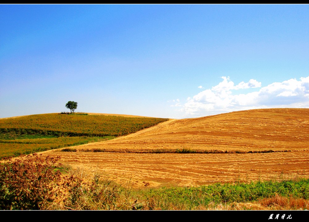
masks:
<svg viewBox="0 0 309 222"><path fill-rule="evenodd" d="M309 108L309 5L0 5L0 118Z"/></svg>

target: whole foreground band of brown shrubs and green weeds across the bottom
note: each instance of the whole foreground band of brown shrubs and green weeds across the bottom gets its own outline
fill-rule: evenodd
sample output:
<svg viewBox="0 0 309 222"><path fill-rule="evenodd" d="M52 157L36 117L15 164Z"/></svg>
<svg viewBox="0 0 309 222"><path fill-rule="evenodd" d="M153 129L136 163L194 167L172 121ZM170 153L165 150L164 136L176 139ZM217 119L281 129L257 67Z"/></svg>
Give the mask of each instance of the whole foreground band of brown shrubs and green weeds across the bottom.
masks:
<svg viewBox="0 0 309 222"><path fill-rule="evenodd" d="M235 210L237 203L308 209L309 179L133 190L99 173L83 181L81 170L57 164L58 158L33 154L0 164L0 210Z"/></svg>

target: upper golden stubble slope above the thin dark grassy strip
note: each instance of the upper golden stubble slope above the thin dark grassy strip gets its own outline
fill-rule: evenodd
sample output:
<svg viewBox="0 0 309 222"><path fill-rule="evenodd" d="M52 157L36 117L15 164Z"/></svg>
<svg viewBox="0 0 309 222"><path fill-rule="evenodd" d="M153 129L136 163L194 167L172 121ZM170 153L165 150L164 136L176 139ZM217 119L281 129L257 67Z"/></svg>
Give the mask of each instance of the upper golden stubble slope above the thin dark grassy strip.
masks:
<svg viewBox="0 0 309 222"><path fill-rule="evenodd" d="M252 109L198 118L173 119L135 134L76 146L105 152L304 150L309 143L309 109Z"/></svg>

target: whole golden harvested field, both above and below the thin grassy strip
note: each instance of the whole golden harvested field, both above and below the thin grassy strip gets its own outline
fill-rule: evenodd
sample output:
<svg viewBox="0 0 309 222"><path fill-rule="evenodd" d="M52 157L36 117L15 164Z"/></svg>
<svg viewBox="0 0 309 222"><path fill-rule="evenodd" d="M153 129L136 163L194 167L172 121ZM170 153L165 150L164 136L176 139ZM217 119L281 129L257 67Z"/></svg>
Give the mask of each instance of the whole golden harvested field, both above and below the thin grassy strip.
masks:
<svg viewBox="0 0 309 222"><path fill-rule="evenodd" d="M169 120L116 139L43 152L136 187L309 178L309 109ZM73 149L74 148L74 149Z"/></svg>

